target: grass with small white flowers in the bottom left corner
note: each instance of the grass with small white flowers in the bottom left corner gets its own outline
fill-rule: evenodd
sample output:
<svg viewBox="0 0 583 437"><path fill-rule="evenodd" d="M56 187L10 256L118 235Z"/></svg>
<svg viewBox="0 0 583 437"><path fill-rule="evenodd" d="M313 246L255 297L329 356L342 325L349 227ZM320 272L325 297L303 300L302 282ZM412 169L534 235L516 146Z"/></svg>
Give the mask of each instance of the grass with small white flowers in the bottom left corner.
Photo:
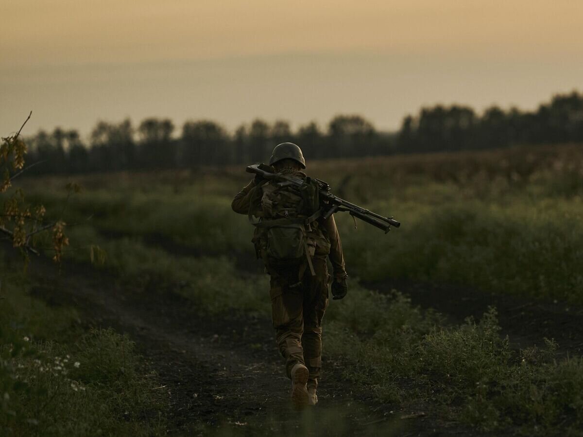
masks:
<svg viewBox="0 0 583 437"><path fill-rule="evenodd" d="M57 289L24 277L22 261L4 250L0 273L2 435L164 433L155 375L126 335L86 328L75 310L31 297L35 287Z"/></svg>

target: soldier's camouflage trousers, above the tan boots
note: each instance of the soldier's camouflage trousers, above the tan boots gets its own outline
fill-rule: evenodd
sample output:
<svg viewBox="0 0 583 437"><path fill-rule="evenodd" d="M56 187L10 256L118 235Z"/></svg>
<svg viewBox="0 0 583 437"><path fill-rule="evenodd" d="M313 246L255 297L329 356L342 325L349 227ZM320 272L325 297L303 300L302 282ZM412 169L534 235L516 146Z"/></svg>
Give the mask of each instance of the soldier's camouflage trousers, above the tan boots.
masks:
<svg viewBox="0 0 583 437"><path fill-rule="evenodd" d="M310 371L308 387L317 387L322 368L322 317L328 307L328 267L313 258L315 275L305 271L298 284L298 267L269 268L273 327L287 376L296 363Z"/></svg>

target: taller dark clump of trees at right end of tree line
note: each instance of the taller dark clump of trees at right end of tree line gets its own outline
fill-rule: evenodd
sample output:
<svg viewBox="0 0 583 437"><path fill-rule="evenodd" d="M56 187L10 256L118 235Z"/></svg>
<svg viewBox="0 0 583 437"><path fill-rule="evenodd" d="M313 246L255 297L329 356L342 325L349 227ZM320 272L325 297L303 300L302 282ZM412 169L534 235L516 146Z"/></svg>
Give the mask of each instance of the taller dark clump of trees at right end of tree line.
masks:
<svg viewBox="0 0 583 437"><path fill-rule="evenodd" d="M553 96L535 111L497 106L476 114L471 107L437 105L406 116L395 152L442 152L512 145L583 142L583 94Z"/></svg>

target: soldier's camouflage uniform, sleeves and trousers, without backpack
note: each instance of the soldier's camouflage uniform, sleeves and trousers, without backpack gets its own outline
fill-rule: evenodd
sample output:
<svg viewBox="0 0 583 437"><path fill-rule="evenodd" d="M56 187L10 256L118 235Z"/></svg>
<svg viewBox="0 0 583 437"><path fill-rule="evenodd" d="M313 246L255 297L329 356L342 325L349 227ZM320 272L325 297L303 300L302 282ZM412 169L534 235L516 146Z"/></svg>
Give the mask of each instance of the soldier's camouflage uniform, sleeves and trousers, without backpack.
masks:
<svg viewBox="0 0 583 437"><path fill-rule="evenodd" d="M260 205L251 205L257 199L255 190L261 190L251 181L233 199L231 207L239 214L248 214ZM279 351L286 359L286 373L290 377L291 368L296 363L307 366L310 372L308 389L318 386L322 362L322 317L328 307L328 275L326 257L329 257L333 276L346 277L342 243L336 229L334 216L324 220L319 218L314 226L316 242L312 264L315 275L308 270L298 283L297 265L266 266L271 276L269 295L272 304L273 327Z"/></svg>

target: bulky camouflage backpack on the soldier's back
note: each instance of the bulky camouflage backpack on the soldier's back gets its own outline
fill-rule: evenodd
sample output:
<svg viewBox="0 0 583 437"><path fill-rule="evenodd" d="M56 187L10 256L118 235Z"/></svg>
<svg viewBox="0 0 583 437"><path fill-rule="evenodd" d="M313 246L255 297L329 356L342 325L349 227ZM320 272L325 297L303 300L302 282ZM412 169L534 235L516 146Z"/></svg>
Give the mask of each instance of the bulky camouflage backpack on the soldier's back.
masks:
<svg viewBox="0 0 583 437"><path fill-rule="evenodd" d="M266 267L277 265L307 265L314 274L311 257L315 252L314 227L320 215L318 183L303 172L286 173L286 176L301 177L300 186L285 181L265 181L257 190L261 205L258 211L250 211L260 221L256 226L253 242L258 256ZM258 199L259 200L259 199ZM304 269L300 269L303 272ZM301 276L301 273L300 273Z"/></svg>

